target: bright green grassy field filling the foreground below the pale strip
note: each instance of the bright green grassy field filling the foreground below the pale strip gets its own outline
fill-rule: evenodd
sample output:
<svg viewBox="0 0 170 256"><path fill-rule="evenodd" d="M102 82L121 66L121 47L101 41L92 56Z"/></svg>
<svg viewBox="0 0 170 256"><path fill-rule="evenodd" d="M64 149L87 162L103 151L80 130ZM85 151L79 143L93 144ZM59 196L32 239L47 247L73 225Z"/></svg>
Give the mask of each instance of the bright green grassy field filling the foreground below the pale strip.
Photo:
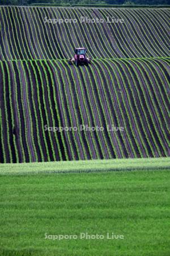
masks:
<svg viewBox="0 0 170 256"><path fill-rule="evenodd" d="M2 175L0 255L168 256L169 183L169 170Z"/></svg>

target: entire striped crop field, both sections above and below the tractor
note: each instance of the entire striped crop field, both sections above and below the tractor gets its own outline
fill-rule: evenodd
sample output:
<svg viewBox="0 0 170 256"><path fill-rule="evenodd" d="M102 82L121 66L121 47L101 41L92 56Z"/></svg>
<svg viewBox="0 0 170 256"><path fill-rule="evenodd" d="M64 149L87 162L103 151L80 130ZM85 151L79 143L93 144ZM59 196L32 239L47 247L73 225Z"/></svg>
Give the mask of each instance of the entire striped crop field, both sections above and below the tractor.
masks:
<svg viewBox="0 0 170 256"><path fill-rule="evenodd" d="M125 22L44 23L80 16ZM169 17L168 9L1 7L0 162L169 156ZM91 65L67 64L75 47L88 49Z"/></svg>

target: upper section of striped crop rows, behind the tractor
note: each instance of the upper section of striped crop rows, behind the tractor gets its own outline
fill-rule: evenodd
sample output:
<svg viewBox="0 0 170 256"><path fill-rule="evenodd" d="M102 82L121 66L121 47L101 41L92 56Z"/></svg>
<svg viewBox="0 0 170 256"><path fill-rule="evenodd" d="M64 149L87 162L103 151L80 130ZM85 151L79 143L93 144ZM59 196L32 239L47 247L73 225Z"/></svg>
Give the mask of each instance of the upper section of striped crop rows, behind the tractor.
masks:
<svg viewBox="0 0 170 256"><path fill-rule="evenodd" d="M81 16L105 22L80 23ZM45 17L78 22L45 23ZM68 59L79 46L94 59L168 56L169 18L168 9L1 7L0 59Z"/></svg>

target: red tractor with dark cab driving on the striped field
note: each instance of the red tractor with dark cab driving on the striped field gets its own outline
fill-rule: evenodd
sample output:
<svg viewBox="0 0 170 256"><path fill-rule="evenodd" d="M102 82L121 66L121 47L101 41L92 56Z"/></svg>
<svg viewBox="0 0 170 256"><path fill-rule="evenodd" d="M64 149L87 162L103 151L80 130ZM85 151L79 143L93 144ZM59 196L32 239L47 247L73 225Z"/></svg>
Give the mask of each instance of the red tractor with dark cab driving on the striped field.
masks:
<svg viewBox="0 0 170 256"><path fill-rule="evenodd" d="M72 59L69 59L69 64L75 63L76 67L81 64L88 64L91 63L91 58L87 56L86 48L75 48L75 54Z"/></svg>

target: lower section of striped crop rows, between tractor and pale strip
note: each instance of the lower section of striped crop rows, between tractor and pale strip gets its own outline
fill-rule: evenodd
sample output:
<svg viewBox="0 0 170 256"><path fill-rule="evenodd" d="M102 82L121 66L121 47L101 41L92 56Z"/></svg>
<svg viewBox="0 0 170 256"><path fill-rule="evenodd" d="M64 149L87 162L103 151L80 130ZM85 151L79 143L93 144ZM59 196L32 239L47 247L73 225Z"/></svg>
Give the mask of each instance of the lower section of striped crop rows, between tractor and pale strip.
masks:
<svg viewBox="0 0 170 256"><path fill-rule="evenodd" d="M0 61L0 162L169 155L168 58ZM103 126L104 131L45 131ZM124 131L107 131L107 125Z"/></svg>

